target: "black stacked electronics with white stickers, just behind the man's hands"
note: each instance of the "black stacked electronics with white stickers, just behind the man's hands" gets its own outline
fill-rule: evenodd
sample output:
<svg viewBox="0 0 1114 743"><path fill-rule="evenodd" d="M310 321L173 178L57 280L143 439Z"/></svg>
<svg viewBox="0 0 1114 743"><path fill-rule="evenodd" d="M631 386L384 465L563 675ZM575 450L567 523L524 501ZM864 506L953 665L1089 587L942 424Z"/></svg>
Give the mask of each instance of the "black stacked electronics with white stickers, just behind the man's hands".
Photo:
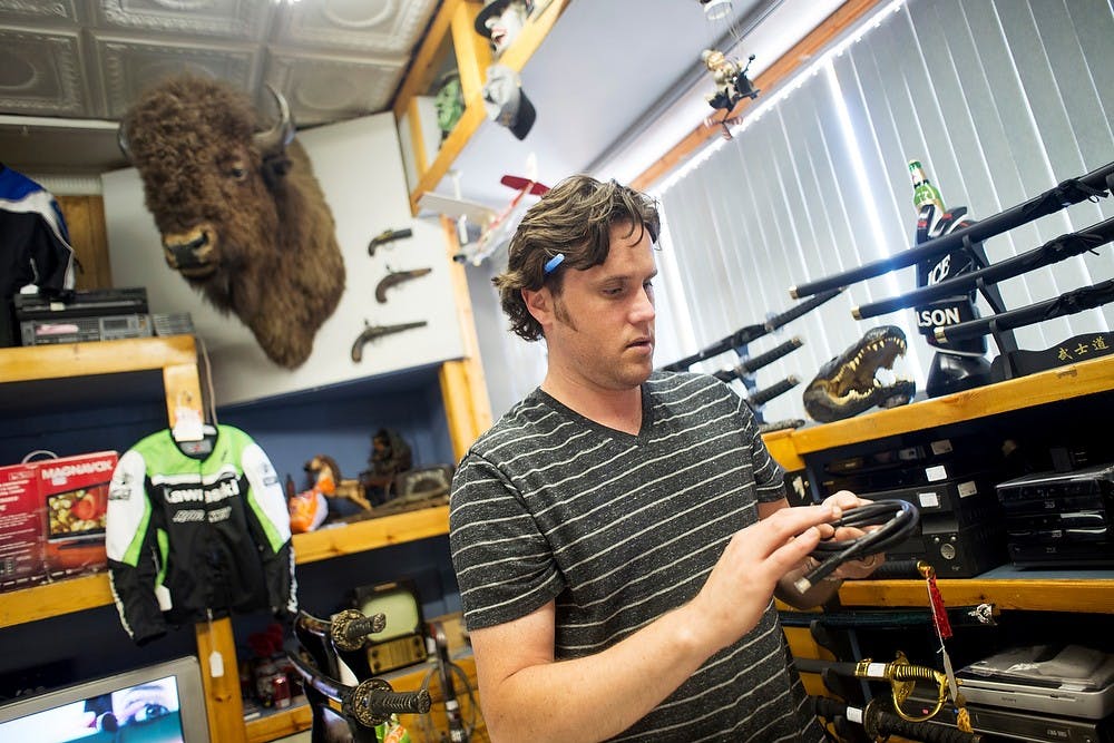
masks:
<svg viewBox="0 0 1114 743"><path fill-rule="evenodd" d="M971 578L1008 560L993 462L978 446L941 438L830 460L821 487L913 504L918 531L887 549L887 560L924 560L938 577Z"/></svg>

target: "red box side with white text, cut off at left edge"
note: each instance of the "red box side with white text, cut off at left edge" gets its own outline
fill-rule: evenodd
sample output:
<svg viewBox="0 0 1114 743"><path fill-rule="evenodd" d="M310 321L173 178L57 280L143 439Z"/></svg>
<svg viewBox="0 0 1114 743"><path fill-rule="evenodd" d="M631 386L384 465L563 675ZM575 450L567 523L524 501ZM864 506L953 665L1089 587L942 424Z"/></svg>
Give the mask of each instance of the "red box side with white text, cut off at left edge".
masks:
<svg viewBox="0 0 1114 743"><path fill-rule="evenodd" d="M46 579L42 517L35 466L0 467L0 590Z"/></svg>

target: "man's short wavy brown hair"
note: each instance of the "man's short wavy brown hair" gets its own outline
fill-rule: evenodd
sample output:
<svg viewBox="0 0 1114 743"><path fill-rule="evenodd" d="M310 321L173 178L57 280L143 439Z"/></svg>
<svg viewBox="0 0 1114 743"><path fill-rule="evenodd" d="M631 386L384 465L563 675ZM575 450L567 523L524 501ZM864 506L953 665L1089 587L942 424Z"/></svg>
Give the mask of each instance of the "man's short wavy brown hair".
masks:
<svg viewBox="0 0 1114 743"><path fill-rule="evenodd" d="M507 270L492 280L502 311L510 317L510 330L527 341L543 338L522 290L547 285L559 295L565 271L604 263L613 224L628 224L631 234L647 229L654 243L661 234L654 199L615 180L604 183L586 175L565 178L526 212L510 239ZM547 275L546 263L558 254L565 258Z"/></svg>

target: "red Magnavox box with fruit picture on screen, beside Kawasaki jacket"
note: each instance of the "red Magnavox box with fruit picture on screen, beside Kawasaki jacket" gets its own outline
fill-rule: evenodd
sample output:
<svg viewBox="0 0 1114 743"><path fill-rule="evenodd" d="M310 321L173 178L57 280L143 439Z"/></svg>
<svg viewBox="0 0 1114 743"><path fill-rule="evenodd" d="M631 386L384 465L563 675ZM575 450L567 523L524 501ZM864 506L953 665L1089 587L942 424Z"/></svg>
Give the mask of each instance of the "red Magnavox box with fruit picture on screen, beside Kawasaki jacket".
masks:
<svg viewBox="0 0 1114 743"><path fill-rule="evenodd" d="M33 462L49 578L107 569L105 520L117 460L115 451L98 451Z"/></svg>

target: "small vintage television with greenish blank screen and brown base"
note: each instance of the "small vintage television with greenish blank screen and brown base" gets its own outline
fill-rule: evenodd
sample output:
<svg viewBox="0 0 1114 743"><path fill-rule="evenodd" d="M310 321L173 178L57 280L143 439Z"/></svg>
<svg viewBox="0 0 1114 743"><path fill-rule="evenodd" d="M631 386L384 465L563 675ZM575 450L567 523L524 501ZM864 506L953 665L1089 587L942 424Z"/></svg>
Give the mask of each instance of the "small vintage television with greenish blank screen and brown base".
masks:
<svg viewBox="0 0 1114 743"><path fill-rule="evenodd" d="M383 632L371 635L365 644L372 672L394 671L429 657L421 599L412 580L403 578L355 588L352 605L364 616L387 616Z"/></svg>

